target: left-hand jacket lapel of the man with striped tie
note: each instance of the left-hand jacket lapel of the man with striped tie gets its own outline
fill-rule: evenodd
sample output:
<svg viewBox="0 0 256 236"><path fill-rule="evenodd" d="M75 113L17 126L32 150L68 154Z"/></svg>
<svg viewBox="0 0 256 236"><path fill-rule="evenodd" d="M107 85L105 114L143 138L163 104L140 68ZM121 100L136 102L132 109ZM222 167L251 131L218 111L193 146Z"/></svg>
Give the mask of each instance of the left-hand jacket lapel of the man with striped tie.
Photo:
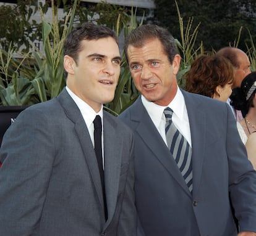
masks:
<svg viewBox="0 0 256 236"><path fill-rule="evenodd" d="M151 121L140 97L135 102L134 108L137 112L132 114L132 120L139 122L136 129L137 133L169 174L176 179L178 184L181 185L187 194L191 195L186 182L181 175L181 171L177 167L176 161L171 155L171 152L169 152L169 149L156 129L155 124Z"/></svg>

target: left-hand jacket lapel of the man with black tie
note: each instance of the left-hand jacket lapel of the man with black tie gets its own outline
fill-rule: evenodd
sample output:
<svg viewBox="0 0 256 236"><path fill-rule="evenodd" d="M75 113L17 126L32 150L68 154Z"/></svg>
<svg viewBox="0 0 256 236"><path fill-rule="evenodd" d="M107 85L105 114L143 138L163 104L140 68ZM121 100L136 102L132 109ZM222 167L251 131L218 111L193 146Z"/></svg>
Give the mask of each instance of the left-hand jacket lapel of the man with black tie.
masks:
<svg viewBox="0 0 256 236"><path fill-rule="evenodd" d="M98 169L98 163L96 161L96 154L93 148L92 140L88 132L85 121L83 120L82 114L79 108L75 104L74 100L69 96L66 89L64 89L57 97L59 103L64 108L67 117L74 122L75 131L79 138L81 148L83 150L83 155L85 161L90 169L90 174L92 176L92 181L95 185L95 189L104 212L103 194L101 188L100 172Z"/></svg>

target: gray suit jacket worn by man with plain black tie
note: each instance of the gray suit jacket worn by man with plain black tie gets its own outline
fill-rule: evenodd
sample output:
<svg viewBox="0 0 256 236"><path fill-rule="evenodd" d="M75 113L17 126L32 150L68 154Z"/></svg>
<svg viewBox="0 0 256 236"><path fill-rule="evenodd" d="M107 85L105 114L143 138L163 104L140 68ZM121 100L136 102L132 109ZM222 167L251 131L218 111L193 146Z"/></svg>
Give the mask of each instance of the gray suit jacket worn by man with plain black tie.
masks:
<svg viewBox="0 0 256 236"><path fill-rule="evenodd" d="M134 137L104 112L105 222L100 174L66 89L20 113L1 145L0 235L135 235Z"/></svg>

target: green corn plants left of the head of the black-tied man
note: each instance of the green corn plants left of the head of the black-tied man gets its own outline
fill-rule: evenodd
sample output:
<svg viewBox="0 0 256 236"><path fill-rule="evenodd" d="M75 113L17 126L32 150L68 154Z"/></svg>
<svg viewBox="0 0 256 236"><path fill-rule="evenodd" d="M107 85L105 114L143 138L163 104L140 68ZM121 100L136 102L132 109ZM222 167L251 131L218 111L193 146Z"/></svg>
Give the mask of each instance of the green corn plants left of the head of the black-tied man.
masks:
<svg viewBox="0 0 256 236"><path fill-rule="evenodd" d="M51 2L53 6L54 0ZM52 7L52 24L43 19L41 11L45 54L33 47L32 54L22 54L19 62L12 45L8 52L0 50L0 105L31 105L52 99L61 92L65 86L62 47L67 33L72 30L76 4L77 0L66 16L62 35L55 8Z"/></svg>

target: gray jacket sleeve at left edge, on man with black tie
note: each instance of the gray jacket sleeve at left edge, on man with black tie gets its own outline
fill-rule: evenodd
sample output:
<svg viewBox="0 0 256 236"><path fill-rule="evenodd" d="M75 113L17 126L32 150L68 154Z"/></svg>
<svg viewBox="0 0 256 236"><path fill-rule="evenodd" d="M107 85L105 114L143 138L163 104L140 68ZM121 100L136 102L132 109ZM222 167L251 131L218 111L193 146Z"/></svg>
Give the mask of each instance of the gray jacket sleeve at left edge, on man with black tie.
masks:
<svg viewBox="0 0 256 236"><path fill-rule="evenodd" d="M50 126L45 114L27 108L6 131L0 150L0 235L39 235L54 161Z"/></svg>

